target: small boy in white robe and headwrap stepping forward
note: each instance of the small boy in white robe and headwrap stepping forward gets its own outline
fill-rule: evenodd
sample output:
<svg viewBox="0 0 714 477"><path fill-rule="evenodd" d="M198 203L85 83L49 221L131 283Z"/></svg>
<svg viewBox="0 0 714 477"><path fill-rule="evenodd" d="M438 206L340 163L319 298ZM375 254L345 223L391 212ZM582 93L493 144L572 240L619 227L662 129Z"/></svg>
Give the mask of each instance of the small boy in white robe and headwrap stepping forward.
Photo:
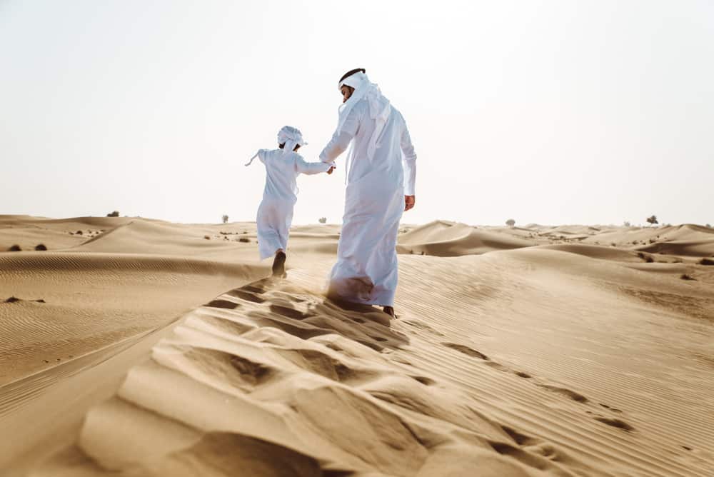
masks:
<svg viewBox="0 0 714 477"><path fill-rule="evenodd" d="M283 126L278 132L280 149L261 149L246 164L258 157L266 166L266 187L258 207L258 250L261 260L273 258L273 276L285 276L285 251L288 231L293 221L293 207L298 197L296 179L299 174L332 174L333 163L306 162L296 151L307 144L297 128Z"/></svg>

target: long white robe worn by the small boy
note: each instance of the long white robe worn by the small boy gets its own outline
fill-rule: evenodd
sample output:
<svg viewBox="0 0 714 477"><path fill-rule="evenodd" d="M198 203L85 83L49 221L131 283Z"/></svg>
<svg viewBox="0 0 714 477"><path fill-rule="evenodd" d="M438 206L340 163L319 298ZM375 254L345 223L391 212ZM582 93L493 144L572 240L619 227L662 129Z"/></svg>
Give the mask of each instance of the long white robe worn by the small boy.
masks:
<svg viewBox="0 0 714 477"><path fill-rule="evenodd" d="M306 162L300 154L283 152L283 149L261 149L258 159L266 166L266 187L256 217L258 251L262 260L273 256L278 248L286 250L288 247L293 208L298 200L298 175L326 172L332 164Z"/></svg>

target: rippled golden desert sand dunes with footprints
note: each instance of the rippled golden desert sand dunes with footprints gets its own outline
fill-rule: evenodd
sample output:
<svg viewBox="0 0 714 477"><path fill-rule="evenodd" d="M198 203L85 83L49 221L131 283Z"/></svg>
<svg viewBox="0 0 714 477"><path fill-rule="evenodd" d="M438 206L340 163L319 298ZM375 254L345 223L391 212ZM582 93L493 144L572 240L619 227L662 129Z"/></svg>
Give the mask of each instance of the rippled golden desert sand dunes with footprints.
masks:
<svg viewBox="0 0 714 477"><path fill-rule="evenodd" d="M391 320L339 231L0 216L0 475L714 475L714 229L404 225Z"/></svg>

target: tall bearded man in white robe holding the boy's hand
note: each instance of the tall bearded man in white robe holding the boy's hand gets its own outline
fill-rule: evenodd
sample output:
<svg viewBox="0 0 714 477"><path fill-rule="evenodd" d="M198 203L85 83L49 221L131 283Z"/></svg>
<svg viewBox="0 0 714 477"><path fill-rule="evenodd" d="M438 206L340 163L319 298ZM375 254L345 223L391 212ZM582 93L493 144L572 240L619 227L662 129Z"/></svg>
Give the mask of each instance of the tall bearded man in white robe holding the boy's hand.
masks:
<svg viewBox="0 0 714 477"><path fill-rule="evenodd" d="M339 81L343 104L320 159L347 155L347 189L337 263L328 296L383 306L394 316L396 242L403 211L415 202L416 154L401 113L369 81L365 69Z"/></svg>

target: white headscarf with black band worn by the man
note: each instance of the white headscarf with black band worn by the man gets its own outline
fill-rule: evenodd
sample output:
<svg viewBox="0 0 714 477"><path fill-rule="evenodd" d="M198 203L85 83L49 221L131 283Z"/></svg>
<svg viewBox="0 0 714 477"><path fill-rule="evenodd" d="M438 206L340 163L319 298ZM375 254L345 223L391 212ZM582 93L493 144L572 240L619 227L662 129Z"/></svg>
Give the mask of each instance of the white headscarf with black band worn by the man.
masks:
<svg viewBox="0 0 714 477"><path fill-rule="evenodd" d="M379 90L379 86L369 81L367 75L361 71L343 79L338 85L338 89L341 89L342 86L351 86L355 90L352 92L350 99L341 104L338 109L339 120L337 123L337 133L341 133L342 128L345 125L345 121L347 120L347 116L350 114L350 111L352 111L355 104L362 99L366 99L369 103L369 116L371 119L376 121L374 132L372 137L369 139L367 147L367 157L371 161L378 146L377 140L382 134L382 130L384 129L387 119L389 119L392 106L389 104L389 100L386 99ZM351 158L348 158L348 161L350 161L350 159Z"/></svg>

